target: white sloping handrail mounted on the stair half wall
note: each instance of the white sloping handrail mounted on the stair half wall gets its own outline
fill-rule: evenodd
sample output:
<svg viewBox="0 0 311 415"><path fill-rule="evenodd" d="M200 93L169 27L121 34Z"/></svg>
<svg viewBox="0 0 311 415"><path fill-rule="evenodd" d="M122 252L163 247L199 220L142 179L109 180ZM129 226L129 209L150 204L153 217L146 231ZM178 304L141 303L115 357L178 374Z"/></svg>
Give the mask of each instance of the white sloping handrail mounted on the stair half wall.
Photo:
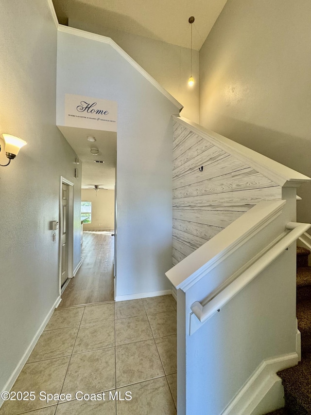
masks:
<svg viewBox="0 0 311 415"><path fill-rule="evenodd" d="M234 281L232 281L231 284L211 299L205 306L203 306L199 301L195 301L190 307L192 312L201 323L206 322L310 228L310 223L289 222L286 225L286 229L290 229L291 232L277 242L275 246L262 255L261 258L259 258L247 270L242 272L242 274L240 274Z"/></svg>

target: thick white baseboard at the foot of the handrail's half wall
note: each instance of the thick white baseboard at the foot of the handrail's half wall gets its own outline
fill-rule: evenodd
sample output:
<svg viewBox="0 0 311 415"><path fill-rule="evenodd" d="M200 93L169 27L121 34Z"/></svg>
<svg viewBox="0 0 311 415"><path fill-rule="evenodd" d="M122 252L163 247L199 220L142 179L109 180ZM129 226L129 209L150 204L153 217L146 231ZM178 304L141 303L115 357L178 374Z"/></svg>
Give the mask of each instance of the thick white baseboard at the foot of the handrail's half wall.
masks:
<svg viewBox="0 0 311 415"><path fill-rule="evenodd" d="M297 353L262 361L221 415L262 415L284 406L283 386L276 372L297 363Z"/></svg>

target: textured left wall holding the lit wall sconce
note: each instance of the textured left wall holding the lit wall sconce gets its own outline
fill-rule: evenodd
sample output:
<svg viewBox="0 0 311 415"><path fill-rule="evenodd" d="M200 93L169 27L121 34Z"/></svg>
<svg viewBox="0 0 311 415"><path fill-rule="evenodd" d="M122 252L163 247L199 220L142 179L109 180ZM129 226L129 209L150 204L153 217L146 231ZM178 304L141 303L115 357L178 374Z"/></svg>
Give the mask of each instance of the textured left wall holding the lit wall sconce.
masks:
<svg viewBox="0 0 311 415"><path fill-rule="evenodd" d="M56 40L47 1L1 1L0 132L28 144L0 167L0 390L59 295L50 221L59 219L61 175L75 184L74 267L80 260L81 182L55 125Z"/></svg>

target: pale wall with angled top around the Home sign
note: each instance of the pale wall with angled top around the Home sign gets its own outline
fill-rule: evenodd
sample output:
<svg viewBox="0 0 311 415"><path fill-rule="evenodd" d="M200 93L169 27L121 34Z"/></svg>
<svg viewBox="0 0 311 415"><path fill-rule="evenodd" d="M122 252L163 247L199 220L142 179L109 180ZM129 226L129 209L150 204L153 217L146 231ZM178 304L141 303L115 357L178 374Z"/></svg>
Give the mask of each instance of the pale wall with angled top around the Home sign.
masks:
<svg viewBox="0 0 311 415"><path fill-rule="evenodd" d="M107 43L59 32L57 65L57 125L64 125L65 93L118 103L116 295L171 289L164 273L172 263L178 108Z"/></svg>

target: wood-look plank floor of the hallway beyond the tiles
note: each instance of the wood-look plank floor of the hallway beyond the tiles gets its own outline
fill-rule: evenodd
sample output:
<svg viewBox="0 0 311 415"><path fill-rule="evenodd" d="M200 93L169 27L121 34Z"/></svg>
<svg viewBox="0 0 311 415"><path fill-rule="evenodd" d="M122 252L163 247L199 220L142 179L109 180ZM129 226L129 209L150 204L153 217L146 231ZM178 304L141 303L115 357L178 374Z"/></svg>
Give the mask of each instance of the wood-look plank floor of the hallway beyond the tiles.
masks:
<svg viewBox="0 0 311 415"><path fill-rule="evenodd" d="M114 301L114 231L84 231L84 260L62 294L58 308Z"/></svg>

